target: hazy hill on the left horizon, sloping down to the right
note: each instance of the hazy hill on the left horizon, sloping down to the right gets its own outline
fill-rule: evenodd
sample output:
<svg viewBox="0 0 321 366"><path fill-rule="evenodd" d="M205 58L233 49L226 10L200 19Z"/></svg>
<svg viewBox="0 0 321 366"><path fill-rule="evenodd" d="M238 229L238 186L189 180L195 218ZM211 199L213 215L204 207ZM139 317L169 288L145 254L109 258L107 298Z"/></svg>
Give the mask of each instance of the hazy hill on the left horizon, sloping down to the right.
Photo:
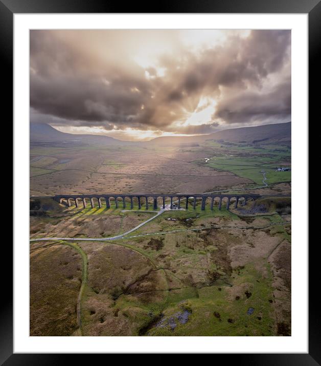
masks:
<svg viewBox="0 0 321 366"><path fill-rule="evenodd" d="M65 133L45 123L30 123L31 143L63 143L128 145L129 141L120 141L109 136Z"/></svg>

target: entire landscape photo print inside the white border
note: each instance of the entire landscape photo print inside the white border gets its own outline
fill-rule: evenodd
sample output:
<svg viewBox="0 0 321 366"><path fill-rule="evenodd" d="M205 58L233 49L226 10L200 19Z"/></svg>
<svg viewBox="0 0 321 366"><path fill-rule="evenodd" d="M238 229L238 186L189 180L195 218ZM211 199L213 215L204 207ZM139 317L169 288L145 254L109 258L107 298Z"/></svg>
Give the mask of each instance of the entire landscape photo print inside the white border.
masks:
<svg viewBox="0 0 321 366"><path fill-rule="evenodd" d="M30 335L291 335L291 31L30 31Z"/></svg>

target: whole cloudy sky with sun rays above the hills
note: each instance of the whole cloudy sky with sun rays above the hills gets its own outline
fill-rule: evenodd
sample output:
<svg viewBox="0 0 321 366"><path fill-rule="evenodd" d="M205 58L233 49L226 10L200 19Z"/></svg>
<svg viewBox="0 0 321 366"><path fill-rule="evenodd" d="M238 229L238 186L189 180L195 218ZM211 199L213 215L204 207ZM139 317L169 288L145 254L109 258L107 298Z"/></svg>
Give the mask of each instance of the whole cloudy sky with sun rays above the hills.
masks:
<svg viewBox="0 0 321 366"><path fill-rule="evenodd" d="M139 141L289 121L290 30L30 31L30 122Z"/></svg>

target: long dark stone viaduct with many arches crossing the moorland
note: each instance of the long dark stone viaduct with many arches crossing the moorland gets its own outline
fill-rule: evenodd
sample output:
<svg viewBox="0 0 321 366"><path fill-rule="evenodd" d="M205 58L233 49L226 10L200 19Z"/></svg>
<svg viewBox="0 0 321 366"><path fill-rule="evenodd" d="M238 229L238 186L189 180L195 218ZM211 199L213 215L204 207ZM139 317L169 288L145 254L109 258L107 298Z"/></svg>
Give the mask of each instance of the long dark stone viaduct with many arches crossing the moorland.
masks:
<svg viewBox="0 0 321 366"><path fill-rule="evenodd" d="M98 207L103 207L103 201L105 201L105 206L107 209L111 207L111 199L113 201L113 207L118 208L119 204L122 204L123 209L126 209L126 203L130 204L130 209L134 207L134 198L138 202L138 208L141 209L145 207L148 210L149 204L153 206L153 210L158 209L157 199L161 198L161 206L165 209L165 199L170 200L170 208L173 209L174 207L180 209L184 207L188 209L189 204L193 205L193 208L196 208L196 201L197 199L201 199L201 210L205 210L205 205L207 204L207 199L209 199L208 204L210 205L211 210L213 210L213 205L215 204L215 199L218 200L218 209L220 210L222 204L226 204L226 209L230 208L231 200L233 200L234 207L237 208L239 201L242 201L242 204L246 204L248 200L255 200L262 197L261 195L254 195L254 194L89 194L89 195L56 195L51 197L43 197L43 198L53 198L57 202L61 203L63 201L67 202L68 206L72 205L72 201L75 201L76 207L79 207L79 201L82 202L83 207L85 208L90 202L92 208L95 207L94 199L98 201ZM264 196L265 197L265 196ZM31 198L42 198L42 197L31 197ZM120 200L119 200L120 198ZM149 198L151 198L149 202ZM126 201L127 199L127 201ZM174 203L174 199L176 199L176 203ZM192 202L189 201L192 199ZM223 199L224 202L223 202ZM185 201L184 203L181 201Z"/></svg>

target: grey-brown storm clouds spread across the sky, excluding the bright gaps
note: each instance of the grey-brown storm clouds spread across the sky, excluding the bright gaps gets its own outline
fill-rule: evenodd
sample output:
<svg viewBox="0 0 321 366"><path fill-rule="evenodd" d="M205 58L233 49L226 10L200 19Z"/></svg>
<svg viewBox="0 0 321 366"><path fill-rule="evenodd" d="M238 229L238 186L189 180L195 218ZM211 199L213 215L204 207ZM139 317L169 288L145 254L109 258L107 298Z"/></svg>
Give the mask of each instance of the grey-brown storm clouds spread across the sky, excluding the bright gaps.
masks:
<svg viewBox="0 0 321 366"><path fill-rule="evenodd" d="M30 104L41 119L106 130L171 131L172 122L185 121L201 97L218 100L213 120L181 126L178 133L209 133L217 120L259 124L290 115L290 82L283 75L290 31L251 31L197 54L182 48L162 55L157 65L166 70L162 77L157 67L133 61L119 45L120 32L90 32L31 31ZM265 81L278 73L276 85L265 90Z"/></svg>

